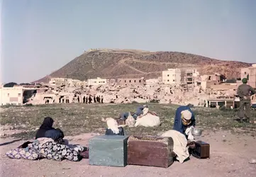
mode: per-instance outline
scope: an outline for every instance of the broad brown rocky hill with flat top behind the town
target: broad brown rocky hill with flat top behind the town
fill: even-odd
[[[51,77],[67,77],[86,80],[89,78],[155,78],[168,68],[194,67],[200,74],[218,72],[227,78],[240,76],[244,62],[223,61],[183,52],[148,52],[142,50],[97,49],[84,52],[56,72],[36,82],[47,82]]]

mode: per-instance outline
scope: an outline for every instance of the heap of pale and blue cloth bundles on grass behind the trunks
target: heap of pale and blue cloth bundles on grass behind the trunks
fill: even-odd
[[[148,105],[139,106],[133,114],[131,112],[121,114],[121,120],[126,120],[128,127],[155,127],[161,124],[157,114],[148,110]]]

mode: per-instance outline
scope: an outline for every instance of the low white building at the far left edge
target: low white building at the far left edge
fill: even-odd
[[[0,105],[22,105],[23,104],[23,86],[1,87]]]

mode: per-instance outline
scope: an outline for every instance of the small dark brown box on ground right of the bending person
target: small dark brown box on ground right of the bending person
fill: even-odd
[[[195,142],[192,155],[198,159],[210,158],[210,144],[202,141]]]

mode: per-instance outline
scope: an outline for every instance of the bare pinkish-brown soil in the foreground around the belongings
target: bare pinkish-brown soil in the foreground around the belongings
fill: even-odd
[[[93,134],[67,137],[69,142],[87,145]],[[256,164],[249,164],[256,159],[255,137],[231,135],[230,132],[204,132],[201,140],[211,144],[211,159],[196,159],[193,156],[184,164],[175,161],[169,168],[149,166],[89,166],[89,159],[79,162],[28,161],[9,159],[5,152],[17,147],[23,141],[0,139],[0,176],[256,176]],[[10,144],[4,144],[11,142]]]

